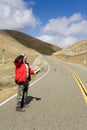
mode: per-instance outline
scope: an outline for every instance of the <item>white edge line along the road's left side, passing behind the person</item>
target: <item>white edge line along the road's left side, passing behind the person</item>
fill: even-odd
[[[47,63],[47,62],[46,62],[46,63]],[[33,83],[31,83],[30,86],[34,85],[36,82],[38,82],[39,80],[41,80],[41,79],[49,72],[50,66],[49,66],[48,63],[47,63],[47,66],[48,66],[47,72],[46,72],[44,75],[42,75],[39,79],[37,79],[37,80],[35,80]],[[14,95],[12,95],[10,98],[6,99],[6,100],[3,101],[2,103],[0,103],[0,106],[4,105],[4,104],[7,103],[8,101],[10,101],[10,100],[11,100],[12,98],[14,98],[16,95],[17,95],[17,93],[14,94]]]

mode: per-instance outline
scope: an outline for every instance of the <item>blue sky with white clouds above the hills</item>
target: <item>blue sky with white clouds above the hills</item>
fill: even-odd
[[[0,0],[0,29],[66,48],[87,38],[87,0]]]

